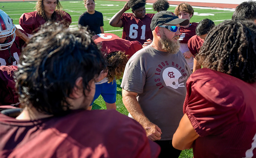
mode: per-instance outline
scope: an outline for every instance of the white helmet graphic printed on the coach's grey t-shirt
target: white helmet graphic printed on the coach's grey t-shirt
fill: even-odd
[[[180,77],[180,71],[174,67],[167,67],[163,70],[163,81],[165,82],[166,86],[170,86],[174,89],[185,87],[184,83],[179,84]]]

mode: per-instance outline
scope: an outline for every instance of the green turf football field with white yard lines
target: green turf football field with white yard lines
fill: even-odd
[[[121,37],[122,28],[114,28],[109,25],[109,20],[111,17],[118,12],[125,4],[125,2],[116,2],[116,1],[99,1],[96,0],[95,10],[102,12],[104,18],[104,31],[111,32]],[[19,24],[19,18],[24,12],[32,12],[34,11],[34,7],[36,2],[1,2],[1,9],[9,14],[11,18],[13,18],[14,24]],[[64,10],[68,12],[72,17],[72,27],[77,28],[78,18],[79,16],[85,12],[85,7],[83,1],[61,1],[61,5]],[[174,12],[175,6],[170,6],[168,11]],[[191,18],[190,22],[199,22],[202,19],[208,18],[215,22],[215,24],[219,24],[224,20],[229,20],[232,17],[234,10],[231,9],[209,9],[203,7],[194,7],[195,14]],[[128,10],[127,13],[131,13],[131,10]],[[152,4],[146,5],[146,13],[156,13],[153,11]],[[128,115],[128,111],[123,105],[122,102],[122,94],[120,88],[121,80],[117,81],[117,110],[124,114]],[[93,103],[93,109],[106,109],[105,102],[100,96]],[[180,158],[192,158],[193,153],[192,150],[184,150]]]

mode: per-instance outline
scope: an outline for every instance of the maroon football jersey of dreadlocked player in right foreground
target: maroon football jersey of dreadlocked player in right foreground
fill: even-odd
[[[211,69],[190,75],[183,112],[199,134],[195,158],[256,158],[256,83]]]

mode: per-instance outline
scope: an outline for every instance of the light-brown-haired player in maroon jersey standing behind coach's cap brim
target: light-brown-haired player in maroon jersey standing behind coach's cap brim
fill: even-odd
[[[181,3],[175,8],[174,14],[176,14],[181,19],[190,20],[190,18],[194,14],[194,9],[188,3]],[[180,39],[179,39],[181,43],[180,50],[183,53],[191,70],[193,70],[194,58],[191,52],[189,51],[188,41],[192,36],[196,35],[196,27],[197,27],[197,23],[193,22],[193,23],[189,23],[189,25],[187,26],[182,26],[180,28],[180,32],[181,32]]]

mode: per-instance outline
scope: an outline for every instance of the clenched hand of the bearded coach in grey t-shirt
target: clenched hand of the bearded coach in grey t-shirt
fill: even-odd
[[[150,140],[155,141],[161,139],[162,131],[156,124],[149,122],[144,126],[144,129],[146,130],[146,135]]]

